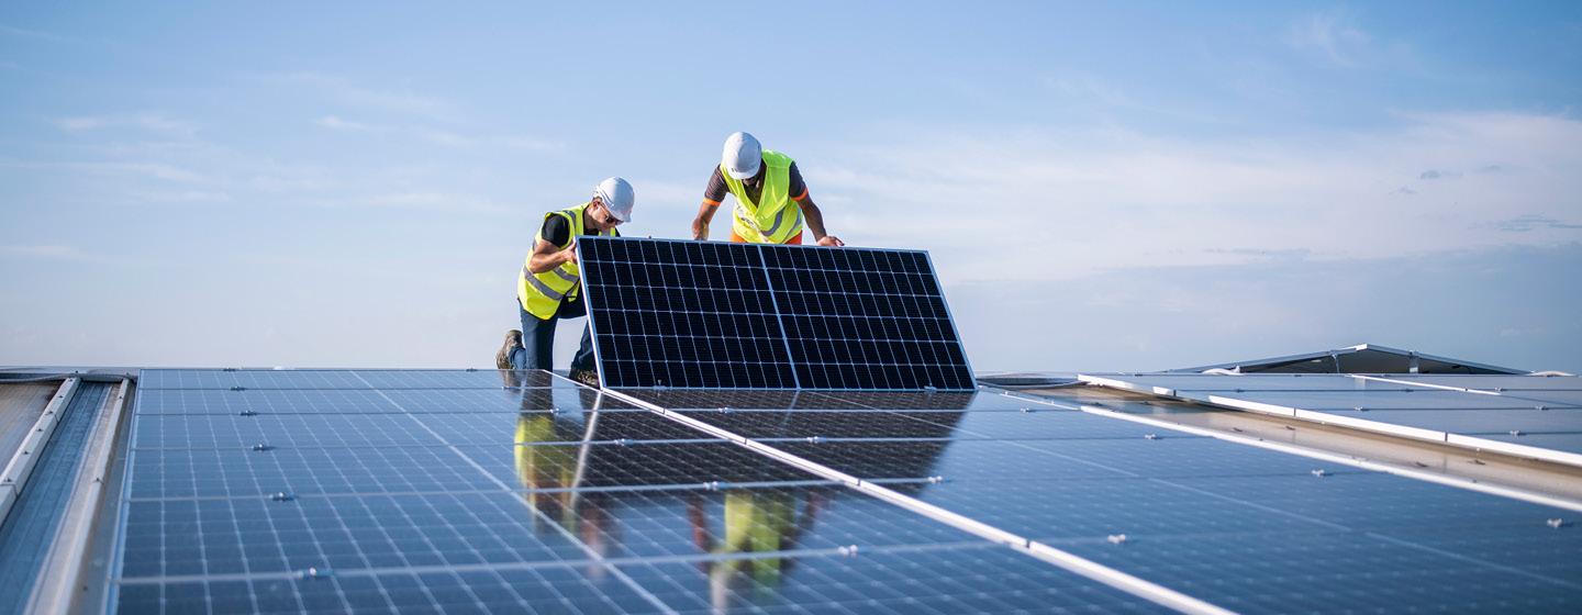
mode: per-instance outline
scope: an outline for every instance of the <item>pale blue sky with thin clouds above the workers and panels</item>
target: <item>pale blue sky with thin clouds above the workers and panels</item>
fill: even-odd
[[[544,210],[685,236],[747,130],[981,370],[1582,372],[1579,76],[1577,3],[6,3],[0,364],[486,367]]]

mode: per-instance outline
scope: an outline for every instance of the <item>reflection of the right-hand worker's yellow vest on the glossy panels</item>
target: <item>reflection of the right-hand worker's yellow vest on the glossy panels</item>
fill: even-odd
[[[736,489],[725,493],[725,539],[717,541],[709,528],[704,496],[690,493],[687,520],[693,528],[693,542],[710,555],[751,555],[793,550],[804,533],[813,530],[818,511],[829,501],[824,490],[805,490],[807,506],[796,514],[796,493],[802,490]],[[780,575],[793,560],[780,557],[721,558],[701,561],[698,566],[709,574],[709,598],[715,609],[728,607],[731,593],[742,582],[751,582],[753,590],[775,590]]]

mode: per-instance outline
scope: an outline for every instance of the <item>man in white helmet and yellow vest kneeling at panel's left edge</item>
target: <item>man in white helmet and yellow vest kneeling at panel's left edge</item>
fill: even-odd
[[[581,206],[544,213],[544,224],[533,239],[533,251],[516,280],[516,302],[522,330],[505,334],[495,353],[501,370],[549,370],[555,346],[555,321],[587,315],[582,302],[582,272],[577,269],[577,236],[620,237],[615,226],[631,220],[634,194],[620,177],[598,182],[593,199]],[[582,348],[571,359],[571,379],[598,386],[593,372],[593,330],[582,329]]]

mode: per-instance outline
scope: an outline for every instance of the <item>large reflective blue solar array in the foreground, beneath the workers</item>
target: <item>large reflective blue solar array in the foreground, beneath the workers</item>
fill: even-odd
[[[144,372],[109,609],[1582,602],[1571,511],[995,392],[378,375]]]

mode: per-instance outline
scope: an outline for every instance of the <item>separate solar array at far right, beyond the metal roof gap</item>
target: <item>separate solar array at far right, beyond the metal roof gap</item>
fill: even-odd
[[[1158,375],[1084,381],[1582,466],[1582,378]]]

